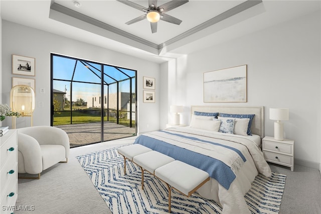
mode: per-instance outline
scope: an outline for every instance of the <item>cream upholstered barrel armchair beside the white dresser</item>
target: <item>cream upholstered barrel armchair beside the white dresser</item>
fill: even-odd
[[[62,129],[35,126],[18,130],[18,173],[38,174],[58,162],[67,162],[69,137]]]

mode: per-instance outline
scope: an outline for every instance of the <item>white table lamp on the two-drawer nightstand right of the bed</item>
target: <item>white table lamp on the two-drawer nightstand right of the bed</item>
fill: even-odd
[[[270,109],[270,120],[274,120],[274,139],[283,140],[283,123],[281,121],[289,120],[289,109],[279,108]]]

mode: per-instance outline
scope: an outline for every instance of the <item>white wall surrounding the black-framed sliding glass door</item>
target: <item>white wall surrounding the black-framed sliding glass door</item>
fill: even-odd
[[[22,55],[36,58],[36,108],[34,112],[34,126],[50,125],[50,53],[72,56],[91,61],[116,65],[137,70],[137,99],[138,99],[138,132],[147,132],[159,129],[159,85],[155,85],[155,103],[142,102],[143,76],[159,79],[159,64],[148,62],[136,57],[128,56],[87,43],[61,37],[45,31],[3,21],[3,103],[10,102],[12,77],[11,55]],[[44,88],[45,93],[40,93]],[[38,103],[44,103],[40,108]],[[5,120],[4,125],[11,126],[11,120]],[[148,126],[147,126],[148,125]],[[30,126],[29,118],[18,118],[17,128]],[[148,128],[147,128],[148,127]]]

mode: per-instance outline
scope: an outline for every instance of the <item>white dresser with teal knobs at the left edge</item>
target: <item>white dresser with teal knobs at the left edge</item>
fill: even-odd
[[[0,137],[0,213],[13,213],[18,197],[18,134]]]

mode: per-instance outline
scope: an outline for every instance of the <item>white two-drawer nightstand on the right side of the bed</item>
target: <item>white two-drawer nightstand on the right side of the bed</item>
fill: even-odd
[[[262,151],[266,161],[271,163],[288,166],[291,171],[294,169],[294,141],[284,139],[275,140],[273,137],[264,137],[262,139]]]

